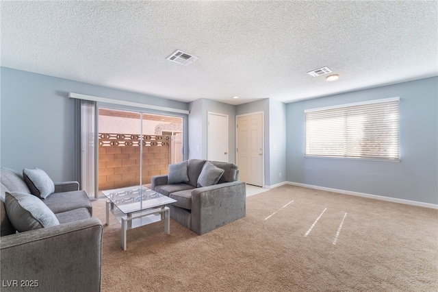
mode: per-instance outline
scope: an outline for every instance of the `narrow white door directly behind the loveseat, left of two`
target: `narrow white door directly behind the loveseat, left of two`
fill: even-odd
[[[228,162],[227,114],[207,114],[207,159]]]

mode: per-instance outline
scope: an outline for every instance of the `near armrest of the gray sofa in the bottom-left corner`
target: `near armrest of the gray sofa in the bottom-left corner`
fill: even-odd
[[[1,279],[18,280],[2,291],[101,291],[102,232],[90,218],[2,236]]]

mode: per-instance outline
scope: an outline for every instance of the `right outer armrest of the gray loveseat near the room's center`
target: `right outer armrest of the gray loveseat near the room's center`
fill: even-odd
[[[204,234],[245,216],[245,182],[224,182],[192,191],[192,231],[197,234]]]

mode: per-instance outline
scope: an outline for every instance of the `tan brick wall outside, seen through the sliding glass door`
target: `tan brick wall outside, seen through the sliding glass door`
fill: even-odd
[[[126,138],[105,141],[103,135],[99,134],[99,191],[138,186],[141,165],[139,143],[130,143]],[[155,142],[157,137],[163,139],[164,136],[153,136],[152,143],[144,141],[142,184],[150,184],[153,175],[168,173],[170,145],[166,143],[166,138],[164,142]]]

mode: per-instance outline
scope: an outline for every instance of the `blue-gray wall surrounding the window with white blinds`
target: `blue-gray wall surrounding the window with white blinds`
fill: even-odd
[[[438,77],[287,104],[287,180],[438,204]],[[305,158],[304,110],[400,97],[400,162]]]

